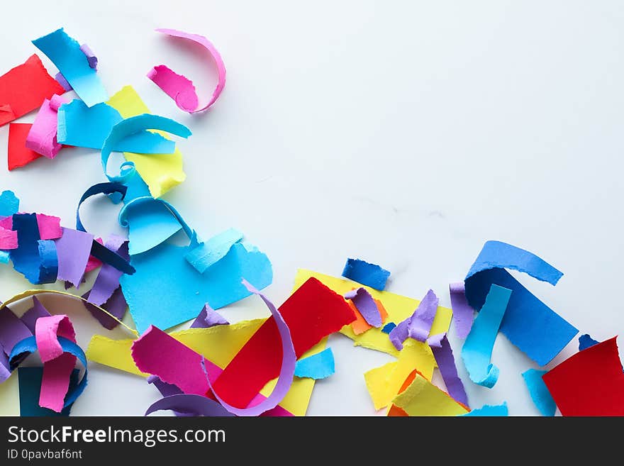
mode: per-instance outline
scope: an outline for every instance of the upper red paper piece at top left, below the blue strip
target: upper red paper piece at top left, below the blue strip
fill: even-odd
[[[38,109],[54,94],[65,94],[65,89],[48,74],[39,57],[31,55],[23,65],[0,76],[0,126]]]

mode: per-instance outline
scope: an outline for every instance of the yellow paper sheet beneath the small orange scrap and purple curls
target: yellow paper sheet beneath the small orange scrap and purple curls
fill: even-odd
[[[359,283],[352,282],[347,279],[331,277],[330,275],[320,274],[311,270],[299,269],[295,276],[295,287],[298,288],[308,278],[315,277],[325,286],[333,289],[338,294],[344,295],[350,292],[354,288],[362,287]],[[388,318],[386,323],[394,322],[398,324],[411,316],[420,301],[418,299],[408,298],[407,296],[401,296],[400,294],[394,294],[390,292],[379,292],[377,289],[370,287],[364,287],[372,295],[374,299],[379,299],[381,304],[384,305],[386,311],[388,311]],[[433,319],[433,325],[431,326],[431,335],[438,335],[438,333],[445,333],[451,323],[452,311],[446,307],[438,306],[438,312]],[[344,326],[340,330],[342,335],[353,340],[353,345],[362,346],[371,350],[382,351],[393,356],[398,356],[399,351],[394,348],[387,333],[381,331],[381,328],[371,328],[369,331],[355,335],[351,326]]]

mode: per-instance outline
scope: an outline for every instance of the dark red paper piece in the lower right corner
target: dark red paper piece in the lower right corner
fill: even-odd
[[[576,353],[542,376],[563,416],[624,416],[624,373],[615,339]]]

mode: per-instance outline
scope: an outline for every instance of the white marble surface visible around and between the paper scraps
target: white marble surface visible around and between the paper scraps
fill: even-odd
[[[132,84],[152,112],[191,128],[179,141],[188,178],[165,199],[204,237],[244,231],[272,260],[266,291],[277,304],[298,267],[340,275],[348,256],[391,270],[389,291],[420,298],[432,288],[449,306],[448,283],[496,239],[564,272],[557,287],[520,279],[581,332],[602,340],[624,328],[620,2],[30,0],[6,2],[2,17],[0,72],[35,52],[31,39],[65,26],[96,52],[110,94]],[[228,81],[211,111],[179,111],[145,77],[165,63],[194,79],[203,101],[215,84],[193,48],[157,27],[206,35],[221,51]],[[79,196],[103,181],[93,150],[0,170],[22,209],[67,226]],[[84,223],[106,235],[117,209],[93,201]],[[2,267],[1,299],[25,287]],[[257,301],[223,314],[266,316]],[[459,355],[453,331],[451,343]],[[316,384],[308,414],[374,414],[362,374],[391,357],[342,335],[330,346],[337,372]],[[574,339],[548,367],[576,348]],[[493,362],[501,377],[489,390],[458,361],[472,406],[506,400],[510,414],[538,414],[520,376],[533,362],[503,335]],[[89,368],[75,415],[140,415],[157,399],[142,379]]]

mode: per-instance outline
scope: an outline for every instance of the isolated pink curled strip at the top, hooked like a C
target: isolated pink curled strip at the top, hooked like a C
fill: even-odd
[[[223,63],[221,54],[203,35],[185,33],[182,30],[175,29],[157,29],[156,32],[192,40],[193,42],[202,45],[206,48],[206,50],[208,50],[210,55],[212,55],[217,66],[218,83],[213,91],[212,98],[208,101],[208,104],[201,109],[198,109],[199,99],[197,97],[193,82],[190,79],[169,70],[169,68],[165,65],[154,67],[149,73],[147,73],[147,77],[152,79],[152,81],[160,87],[160,89],[165,91],[165,94],[174,99],[179,109],[189,113],[197,113],[208,109],[216,102],[221,95],[221,91],[223,91],[223,88],[225,87],[225,64]]]

